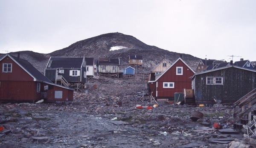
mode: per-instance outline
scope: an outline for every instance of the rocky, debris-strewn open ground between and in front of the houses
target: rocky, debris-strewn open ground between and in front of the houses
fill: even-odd
[[[255,139],[233,129],[233,108],[157,102],[145,76],[90,79],[73,104],[0,104],[1,148],[252,148]],[[144,91],[144,93],[143,93]],[[204,114],[190,119],[192,112]],[[214,123],[223,129],[212,128]]]

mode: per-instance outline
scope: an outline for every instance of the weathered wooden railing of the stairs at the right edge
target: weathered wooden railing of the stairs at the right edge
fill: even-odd
[[[253,111],[253,105],[256,104],[256,88],[250,91],[248,94],[241,97],[233,104],[234,114],[233,122],[236,123],[237,118],[241,119],[247,116],[248,121],[251,121]]]

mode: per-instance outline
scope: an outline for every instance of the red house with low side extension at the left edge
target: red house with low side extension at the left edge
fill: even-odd
[[[6,54],[0,59],[0,69],[0,101],[73,101],[73,89],[52,83],[19,55]]]

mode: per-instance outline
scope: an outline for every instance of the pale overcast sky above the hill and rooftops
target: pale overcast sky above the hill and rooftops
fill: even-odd
[[[0,53],[50,53],[111,32],[203,59],[256,61],[256,0],[0,0]]]

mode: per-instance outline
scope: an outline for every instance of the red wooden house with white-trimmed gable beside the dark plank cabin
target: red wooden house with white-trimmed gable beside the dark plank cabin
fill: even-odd
[[[163,74],[148,81],[150,94],[156,99],[174,100],[174,93],[191,89],[191,77],[195,72],[181,58],[177,59]]]

